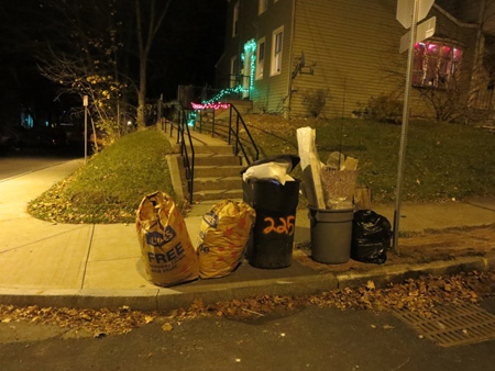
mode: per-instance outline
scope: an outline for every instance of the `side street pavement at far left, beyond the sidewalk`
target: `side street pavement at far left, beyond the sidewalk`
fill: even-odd
[[[0,181],[26,172],[41,170],[54,165],[66,162],[69,157],[63,156],[3,156],[0,157]]]

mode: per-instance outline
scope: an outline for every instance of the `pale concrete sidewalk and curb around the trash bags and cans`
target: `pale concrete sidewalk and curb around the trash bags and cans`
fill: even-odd
[[[166,310],[188,305],[197,299],[208,303],[256,294],[308,294],[334,289],[343,280],[349,284],[352,279],[349,274],[321,274],[294,260],[286,269],[263,270],[244,262],[222,279],[198,280],[168,289],[156,286],[145,279],[133,224],[54,224],[35,220],[25,212],[29,201],[81,164],[72,160],[0,181],[0,304],[130,305],[141,310]],[[201,215],[210,206],[202,204],[186,218],[193,243],[199,234]],[[377,205],[374,210],[392,221],[392,205]],[[477,199],[471,203],[405,204],[400,229],[420,232],[493,223],[495,201]],[[305,210],[297,213],[295,239],[296,243],[309,240]],[[437,267],[447,269],[458,263],[486,270],[495,265],[492,258],[493,261],[466,259],[437,263]],[[386,273],[382,267],[376,267],[369,276],[389,278],[391,272],[404,276],[404,272],[431,271],[428,269],[433,266],[394,267],[392,271],[388,267]]]

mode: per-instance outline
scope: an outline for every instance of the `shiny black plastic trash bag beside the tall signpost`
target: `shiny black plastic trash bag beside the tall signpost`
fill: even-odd
[[[371,210],[354,213],[351,258],[383,265],[391,248],[392,226],[388,220]]]

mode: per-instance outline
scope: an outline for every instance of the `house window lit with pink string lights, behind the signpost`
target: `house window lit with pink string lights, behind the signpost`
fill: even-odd
[[[462,50],[453,45],[429,42],[415,46],[413,85],[447,88],[460,71]]]

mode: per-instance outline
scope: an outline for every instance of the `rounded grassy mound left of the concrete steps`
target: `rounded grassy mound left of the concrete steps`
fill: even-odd
[[[33,200],[28,211],[61,223],[134,222],[146,193],[161,190],[174,195],[168,153],[170,146],[161,132],[127,135]]]

